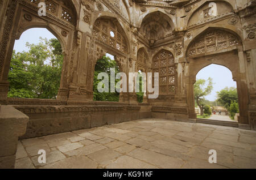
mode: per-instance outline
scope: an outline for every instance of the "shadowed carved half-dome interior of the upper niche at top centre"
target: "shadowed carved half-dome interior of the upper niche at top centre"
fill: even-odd
[[[171,19],[162,12],[152,12],[143,19],[140,32],[148,40],[160,40],[172,34]]]

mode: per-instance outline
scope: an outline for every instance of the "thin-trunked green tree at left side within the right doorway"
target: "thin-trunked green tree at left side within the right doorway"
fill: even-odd
[[[205,84],[207,82],[208,82],[208,85],[207,87],[205,87]],[[205,96],[209,95],[212,92],[212,89],[213,89],[212,78],[208,78],[208,80],[199,79],[196,81],[194,85],[195,100],[196,100],[196,104],[199,106],[201,110],[201,115],[204,114]]]

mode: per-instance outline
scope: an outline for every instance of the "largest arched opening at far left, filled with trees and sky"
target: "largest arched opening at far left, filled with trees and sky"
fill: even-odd
[[[31,28],[15,41],[8,80],[10,98],[56,99],[63,66],[60,41],[46,28]]]

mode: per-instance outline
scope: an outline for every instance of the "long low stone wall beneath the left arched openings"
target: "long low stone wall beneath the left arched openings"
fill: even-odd
[[[101,104],[101,102],[97,102],[97,104]],[[151,117],[151,106],[121,104],[85,106],[22,105],[14,106],[14,108],[30,118],[27,123],[26,134],[21,136],[20,139],[35,138]]]

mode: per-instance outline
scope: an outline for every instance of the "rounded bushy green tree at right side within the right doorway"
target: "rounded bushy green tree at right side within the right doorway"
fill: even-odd
[[[237,88],[226,87],[220,92],[217,92],[217,101],[220,102],[222,106],[229,110],[230,105],[233,102],[238,102]]]

